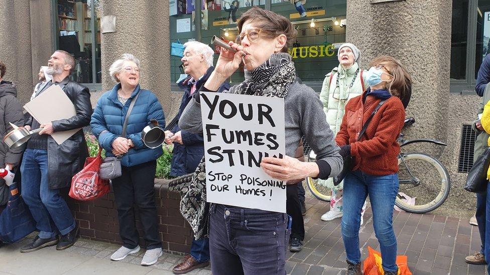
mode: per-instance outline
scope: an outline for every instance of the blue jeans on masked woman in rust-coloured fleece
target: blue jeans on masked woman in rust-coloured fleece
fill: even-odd
[[[344,179],[342,238],[347,260],[360,262],[359,226],[362,205],[369,195],[376,237],[380,242],[383,268],[396,271],[397,239],[393,231],[393,206],[398,193],[398,174],[369,175],[360,170]]]

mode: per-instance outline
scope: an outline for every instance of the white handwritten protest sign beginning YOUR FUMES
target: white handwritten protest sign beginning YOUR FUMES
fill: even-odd
[[[286,213],[286,182],[260,167],[285,156],[284,99],[201,93],[208,202]]]

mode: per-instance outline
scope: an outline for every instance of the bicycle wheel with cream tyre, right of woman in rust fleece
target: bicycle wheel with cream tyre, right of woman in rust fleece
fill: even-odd
[[[395,204],[411,213],[427,213],[441,206],[449,195],[451,180],[439,160],[424,153],[398,156],[400,187]],[[415,205],[403,201],[403,195],[415,198]]]

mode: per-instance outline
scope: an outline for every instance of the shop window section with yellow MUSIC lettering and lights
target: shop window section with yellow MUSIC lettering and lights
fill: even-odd
[[[272,0],[271,10],[291,20],[298,35],[290,48],[296,75],[323,81],[338,66],[337,48],[345,42],[345,0]]]

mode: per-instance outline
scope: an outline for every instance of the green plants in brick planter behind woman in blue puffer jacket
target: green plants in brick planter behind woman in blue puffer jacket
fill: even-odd
[[[85,134],[85,139],[88,146],[88,154],[91,157],[95,157],[99,151],[99,143],[95,136]],[[172,151],[173,145],[163,145],[163,155],[157,159],[157,170],[155,172],[156,178],[170,178],[170,165],[172,163]],[[102,158],[105,158],[105,149],[102,149]]]

